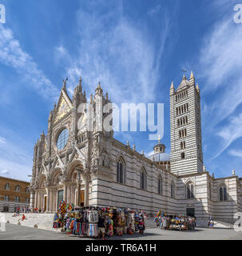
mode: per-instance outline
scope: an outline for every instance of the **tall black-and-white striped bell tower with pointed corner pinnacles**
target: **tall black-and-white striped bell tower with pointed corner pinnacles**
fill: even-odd
[[[177,90],[170,87],[171,171],[194,174],[203,171],[200,122],[200,89],[191,72]]]

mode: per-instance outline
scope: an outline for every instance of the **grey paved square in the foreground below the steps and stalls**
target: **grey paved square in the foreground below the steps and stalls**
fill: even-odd
[[[242,240],[242,232],[228,229],[196,228],[194,231],[173,231],[147,229],[145,234],[114,236],[109,240]],[[97,240],[97,238],[78,238],[51,230],[34,229],[28,226],[6,224],[6,232],[0,232],[0,240]]]

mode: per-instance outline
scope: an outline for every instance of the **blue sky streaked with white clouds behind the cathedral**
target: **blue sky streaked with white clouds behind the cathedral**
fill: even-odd
[[[240,1],[239,1],[240,2]],[[204,165],[216,177],[242,174],[242,24],[238,1],[1,0],[0,175],[30,180],[34,143],[62,86],[79,76],[113,102],[164,102],[169,152],[169,86],[181,70],[201,90]],[[242,2],[241,2],[242,3]],[[149,154],[148,133],[117,133]]]

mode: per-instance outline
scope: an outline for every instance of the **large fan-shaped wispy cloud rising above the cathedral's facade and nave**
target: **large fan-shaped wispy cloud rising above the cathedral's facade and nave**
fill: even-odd
[[[75,85],[81,76],[88,93],[101,81],[113,102],[153,101],[169,35],[169,18],[161,20],[161,46],[157,54],[152,35],[125,18],[120,6],[113,6],[102,15],[95,10],[77,12],[78,54],[72,56],[64,46],[55,49],[57,58],[70,60],[66,62],[69,84]],[[73,87],[69,89],[73,91]]]

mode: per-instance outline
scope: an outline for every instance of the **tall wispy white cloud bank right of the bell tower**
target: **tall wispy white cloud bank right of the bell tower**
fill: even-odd
[[[210,98],[209,102],[204,98],[203,118],[204,122],[209,122],[204,134],[217,134],[223,139],[222,150],[212,159],[240,138],[241,115],[236,113],[236,108],[242,102],[241,26],[233,22],[231,2],[216,5],[216,10],[223,15],[205,35],[196,66],[204,82],[203,94]]]

